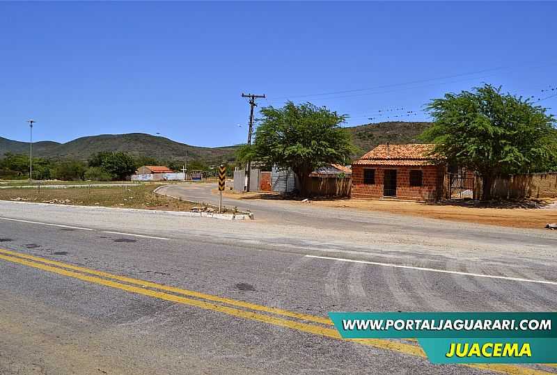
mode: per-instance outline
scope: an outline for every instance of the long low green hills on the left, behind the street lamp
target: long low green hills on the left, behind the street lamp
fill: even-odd
[[[185,159],[206,163],[219,163],[233,160],[237,146],[197,147],[175,142],[171,139],[143,133],[101,134],[74,139],[68,143],[50,141],[33,143],[33,156],[52,159],[86,160],[91,154],[100,151],[123,151],[134,156],[155,157],[160,160]],[[11,141],[0,137],[0,155],[6,152],[26,154],[29,143]]]

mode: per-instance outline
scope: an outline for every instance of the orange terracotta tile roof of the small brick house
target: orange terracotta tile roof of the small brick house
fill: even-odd
[[[354,164],[378,164],[386,166],[425,166],[442,159],[432,154],[435,145],[377,145]]]

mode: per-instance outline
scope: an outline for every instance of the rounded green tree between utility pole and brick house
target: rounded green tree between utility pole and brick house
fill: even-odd
[[[282,108],[261,109],[253,147],[239,152],[278,168],[292,168],[306,194],[307,179],[324,163],[347,163],[354,151],[350,134],[340,127],[346,115],[311,103],[287,102]]]

